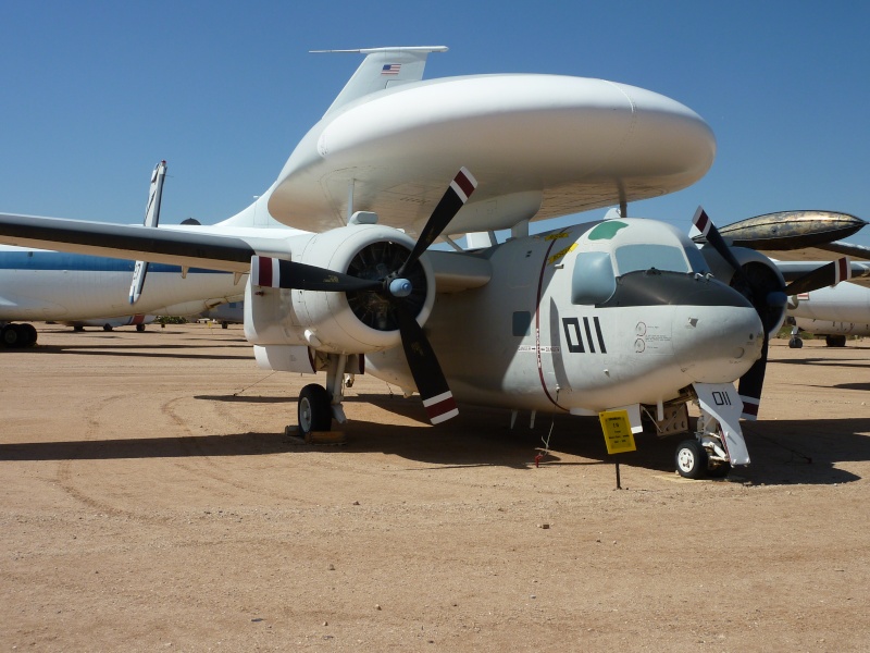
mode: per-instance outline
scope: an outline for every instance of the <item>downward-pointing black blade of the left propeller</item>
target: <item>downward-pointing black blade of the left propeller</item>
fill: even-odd
[[[456,401],[423,329],[401,300],[394,300],[393,306],[396,308],[405,357],[430,421],[438,424],[456,417],[459,415]]]

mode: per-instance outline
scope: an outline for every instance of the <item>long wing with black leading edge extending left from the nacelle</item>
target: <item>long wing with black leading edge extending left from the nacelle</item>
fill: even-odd
[[[13,213],[0,213],[0,243],[243,273],[251,256],[274,251],[266,238]]]

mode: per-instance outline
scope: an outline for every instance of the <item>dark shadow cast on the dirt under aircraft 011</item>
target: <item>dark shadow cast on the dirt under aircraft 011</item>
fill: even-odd
[[[202,396],[225,402],[285,403],[275,397]],[[353,404],[368,402],[412,420],[410,424],[353,421]],[[434,467],[502,466],[534,467],[538,447],[549,435],[548,466],[611,464],[595,418],[538,415],[533,429],[530,415],[520,414],[514,429],[510,412],[501,409],[462,407],[459,418],[438,427],[422,421],[419,402],[398,395],[349,397],[343,430],[343,446],[295,445],[284,433],[234,433],[179,438],[114,439],[73,442],[0,444],[0,459],[60,460],[164,458],[189,456],[262,456],[312,451],[333,451],[336,456],[383,452],[413,464]],[[743,422],[753,464],[736,475],[753,484],[833,484],[860,477],[842,469],[842,464],[870,460],[870,419],[775,420]],[[642,433],[637,449],[620,454],[621,465],[672,473],[676,445],[684,436],[659,439]]]

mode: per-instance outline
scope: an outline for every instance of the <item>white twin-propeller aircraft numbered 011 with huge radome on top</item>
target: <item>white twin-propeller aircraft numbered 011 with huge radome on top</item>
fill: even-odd
[[[258,362],[325,372],[300,393],[303,434],[345,421],[345,384],[364,372],[419,392],[433,423],[457,403],[533,419],[624,409],[633,431],[646,421],[670,433],[688,429],[692,401],[701,417],[678,447],[680,473],[748,464],[738,419],[758,407],[783,276],[729,247],[701,211],[700,252],[667,223],[626,218],[630,202],[707,172],[710,127],[672,99],[601,79],[423,81],[428,53],[445,49],[357,50],[366,57],[323,119],[229,221],[307,233],[0,214],[0,241],[250,272],[245,334]],[[619,219],[527,234],[529,221],[614,204]],[[485,246],[426,251],[465,233]]]

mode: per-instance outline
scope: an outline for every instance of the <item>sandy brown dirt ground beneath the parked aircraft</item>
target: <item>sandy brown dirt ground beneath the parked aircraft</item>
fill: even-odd
[[[751,466],[642,435],[619,491],[594,419],[433,428],[361,377],[299,446],[310,379],[238,326],[38,326],[0,350],[0,651],[870,650],[870,341],[773,341]]]

